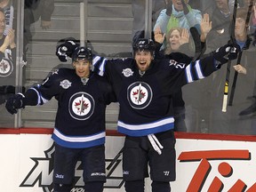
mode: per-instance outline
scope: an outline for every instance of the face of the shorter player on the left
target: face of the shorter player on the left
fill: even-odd
[[[89,60],[75,60],[73,66],[77,76],[87,77],[90,75],[91,62]]]

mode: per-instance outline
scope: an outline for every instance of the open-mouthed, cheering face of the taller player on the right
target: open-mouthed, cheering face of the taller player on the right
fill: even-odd
[[[153,60],[153,56],[151,52],[147,51],[135,52],[134,59],[140,71],[146,71],[150,66],[151,60]]]

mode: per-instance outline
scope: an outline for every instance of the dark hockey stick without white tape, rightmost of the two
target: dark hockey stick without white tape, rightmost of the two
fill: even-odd
[[[245,26],[248,28],[248,24],[249,24],[249,21],[250,21],[250,17],[251,17],[251,13],[252,13],[252,4],[253,4],[253,0],[250,1],[250,4],[249,4],[249,8],[248,8],[248,12],[247,12],[247,16],[246,16],[246,20],[245,20]],[[245,49],[248,49],[249,46],[250,46],[250,37],[247,36],[247,41],[246,41],[246,47]],[[249,41],[249,42],[248,42]],[[242,52],[239,53],[238,55],[238,59],[237,59],[237,64],[240,64],[240,61],[241,61],[241,58],[242,58],[242,53],[243,53],[243,50]],[[238,72],[235,71],[235,75],[234,75],[234,78],[233,78],[233,84],[232,84],[232,87],[231,87],[231,92],[230,92],[230,96],[229,96],[229,100],[228,100],[228,106],[232,106],[233,104],[233,100],[234,100],[234,95],[235,95],[235,90],[236,90],[236,81],[237,81],[237,76],[238,76]]]

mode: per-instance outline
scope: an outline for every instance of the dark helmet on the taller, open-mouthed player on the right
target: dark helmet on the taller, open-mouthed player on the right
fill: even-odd
[[[155,43],[152,39],[148,38],[139,38],[132,46],[133,53],[147,51],[154,54],[155,52]]]

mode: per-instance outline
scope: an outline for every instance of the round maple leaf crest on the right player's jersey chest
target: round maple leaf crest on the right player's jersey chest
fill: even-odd
[[[128,87],[127,100],[132,108],[147,108],[153,97],[151,87],[145,82],[135,82]]]

